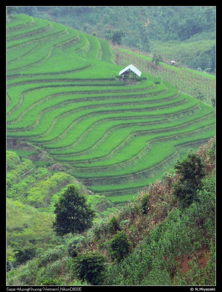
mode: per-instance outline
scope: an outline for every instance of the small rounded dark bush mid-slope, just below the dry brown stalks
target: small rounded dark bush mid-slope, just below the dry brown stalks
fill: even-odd
[[[127,234],[124,231],[118,231],[109,241],[108,253],[113,260],[120,261],[130,253],[131,248],[132,243],[128,241]]]

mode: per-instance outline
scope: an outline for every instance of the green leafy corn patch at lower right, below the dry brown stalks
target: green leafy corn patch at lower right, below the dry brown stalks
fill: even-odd
[[[206,178],[203,184],[199,204],[202,228],[196,224],[195,205],[190,205],[186,212],[175,208],[162,223],[150,229],[129,256],[108,267],[104,284],[214,285],[215,176]],[[196,263],[198,258],[205,258],[206,263],[203,268],[187,264],[190,270],[184,274],[182,259],[190,260],[191,256]]]

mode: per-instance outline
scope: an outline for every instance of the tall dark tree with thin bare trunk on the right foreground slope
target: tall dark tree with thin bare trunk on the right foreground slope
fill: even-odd
[[[201,157],[197,153],[190,151],[186,158],[178,161],[175,165],[176,173],[180,175],[179,181],[174,185],[173,194],[179,206],[188,208],[194,201],[197,202],[197,190],[202,189],[202,178],[205,175],[205,167]],[[197,216],[199,212],[197,206]],[[200,221],[199,221],[200,223]]]

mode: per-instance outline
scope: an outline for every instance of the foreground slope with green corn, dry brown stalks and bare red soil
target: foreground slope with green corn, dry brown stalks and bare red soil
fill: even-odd
[[[12,268],[8,285],[215,285],[215,140],[197,154],[206,171],[197,193],[199,221],[195,202],[178,208],[179,176],[168,172],[119,213]],[[87,281],[80,272],[85,257]]]

